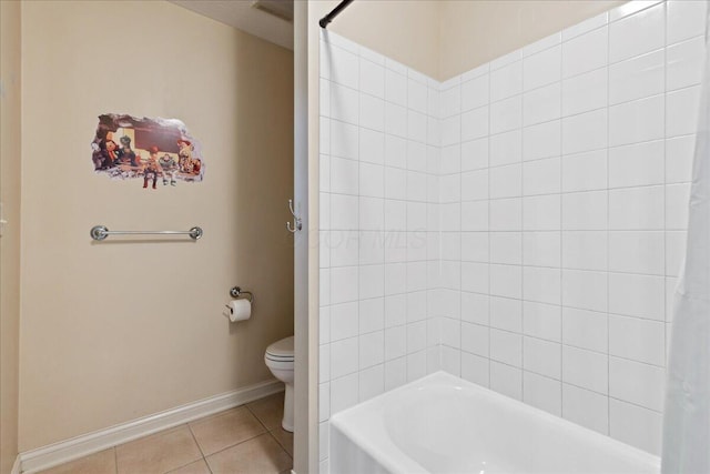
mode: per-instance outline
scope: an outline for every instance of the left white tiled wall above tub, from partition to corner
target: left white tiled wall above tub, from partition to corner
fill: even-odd
[[[452,155],[440,143],[458,148],[460,131],[440,134],[439,104],[458,117],[462,100],[331,33],[321,52],[323,438],[331,414],[442,366],[440,323],[427,300],[439,273],[439,194],[460,202],[458,179],[439,192],[442,154]],[[460,327],[447,330],[459,337]],[[327,468],[327,443],[321,460]]]

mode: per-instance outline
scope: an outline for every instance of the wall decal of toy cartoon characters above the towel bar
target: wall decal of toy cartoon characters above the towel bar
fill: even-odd
[[[91,142],[94,170],[112,179],[138,179],[143,188],[200,182],[204,177],[202,145],[176,119],[99,115]]]

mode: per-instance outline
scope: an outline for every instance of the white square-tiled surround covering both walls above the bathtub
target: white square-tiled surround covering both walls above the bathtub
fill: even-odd
[[[324,471],[437,370],[659,453],[704,2],[650,3],[443,83],[322,32]]]

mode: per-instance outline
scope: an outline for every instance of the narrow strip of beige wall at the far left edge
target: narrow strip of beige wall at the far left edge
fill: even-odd
[[[18,454],[20,323],[20,3],[0,1],[0,473]]]

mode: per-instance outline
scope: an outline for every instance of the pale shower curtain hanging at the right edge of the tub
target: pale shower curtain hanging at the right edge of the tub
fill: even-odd
[[[709,56],[706,31],[706,65],[690,191],[688,246],[673,305],[663,416],[663,474],[710,474]]]

